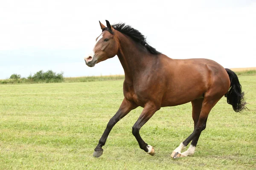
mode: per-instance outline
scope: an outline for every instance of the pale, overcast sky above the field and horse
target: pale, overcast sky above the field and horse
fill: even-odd
[[[117,56],[85,65],[101,34],[99,20],[131,25],[173,59],[256,67],[256,0],[2,0],[0,79],[40,70],[64,77],[124,74]]]

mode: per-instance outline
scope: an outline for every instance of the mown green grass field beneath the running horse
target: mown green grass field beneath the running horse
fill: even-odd
[[[236,113],[221,99],[212,109],[194,156],[170,157],[192,133],[191,104],[161,108],[140,134],[131,133],[142,108],[113,127],[104,153],[94,158],[108,120],[122,102],[122,80],[0,85],[0,170],[256,169],[256,76],[241,76],[250,111]],[[177,121],[178,120],[178,121]]]

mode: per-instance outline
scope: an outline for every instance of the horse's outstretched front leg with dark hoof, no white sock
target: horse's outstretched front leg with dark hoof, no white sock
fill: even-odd
[[[127,99],[123,99],[122,104],[120,105],[119,110],[116,114],[109,120],[108,125],[102,134],[102,137],[99,139],[99,144],[95,147],[93,156],[99,157],[103,153],[102,146],[105,145],[108,135],[116,123],[122,119],[125,115],[127,115],[131,110],[137,108],[138,106],[134,102],[130,102]]]

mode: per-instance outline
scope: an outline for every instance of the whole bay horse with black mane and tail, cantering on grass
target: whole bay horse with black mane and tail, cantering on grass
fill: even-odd
[[[93,53],[84,60],[86,65],[93,67],[117,55],[125,72],[124,99],[109,120],[93,156],[102,155],[102,146],[113,126],[138,106],[144,109],[132,127],[132,133],[140,148],[153,156],[154,147],[143,141],[140,128],[161,107],[192,103],[194,131],[173,151],[172,158],[194,154],[209,112],[222,96],[227,97],[227,103],[234,111],[246,108],[244,93],[233,71],[209,59],[171,59],[148,45],[145,37],[131,26],[124,23],[111,26],[106,22],[107,27],[99,22],[102,33],[96,38]],[[190,142],[188,150],[181,153]]]

